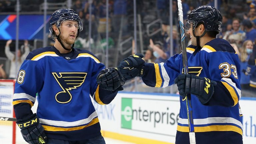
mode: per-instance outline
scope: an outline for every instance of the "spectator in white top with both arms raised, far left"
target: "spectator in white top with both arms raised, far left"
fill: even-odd
[[[16,76],[18,74],[18,70],[22,64],[22,62],[25,60],[27,55],[29,54],[29,46],[28,46],[28,41],[24,41],[24,47],[25,47],[25,52],[24,54],[21,54],[20,49],[17,51],[17,65],[16,65],[16,57],[15,54],[13,54],[10,51],[10,44],[12,43],[12,40],[8,40],[5,45],[5,55],[6,57],[11,61],[11,67],[10,67],[10,79],[16,79]]]

